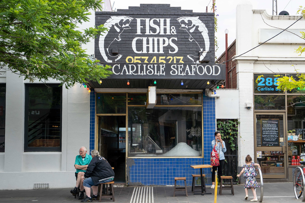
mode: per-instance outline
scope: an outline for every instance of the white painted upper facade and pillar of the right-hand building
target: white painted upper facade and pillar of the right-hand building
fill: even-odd
[[[265,10],[252,10],[249,1],[241,2],[236,7],[236,56],[261,44],[266,36],[268,38],[270,30],[266,31],[266,29],[274,29],[274,27],[286,29],[299,18],[300,16],[270,16]],[[304,23],[304,19],[301,19],[289,29],[295,33],[297,29],[304,28]],[[261,32],[262,30],[264,31]],[[281,31],[281,29],[272,30],[272,33]],[[254,110],[245,108],[245,103],[248,102],[252,103],[253,107],[253,74],[294,73],[291,65],[300,72],[305,72],[305,57],[294,53],[297,47],[305,44],[300,44],[300,40],[295,38],[290,39],[290,35],[291,33],[284,31],[279,37],[234,59],[239,89],[239,133],[241,136],[239,138],[239,166],[244,164],[247,154],[254,157],[256,144],[253,139]],[[288,38],[289,40],[285,40]]]

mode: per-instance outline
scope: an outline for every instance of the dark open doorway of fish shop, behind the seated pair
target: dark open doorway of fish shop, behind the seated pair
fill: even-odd
[[[97,116],[97,150],[114,167],[115,182],[126,183],[126,116]]]

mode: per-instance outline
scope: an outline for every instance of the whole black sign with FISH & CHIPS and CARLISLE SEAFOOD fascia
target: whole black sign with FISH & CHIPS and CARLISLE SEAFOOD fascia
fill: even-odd
[[[214,64],[213,13],[141,5],[95,12],[95,25],[107,28],[95,38],[95,58],[117,64],[111,78],[225,79],[225,65]]]

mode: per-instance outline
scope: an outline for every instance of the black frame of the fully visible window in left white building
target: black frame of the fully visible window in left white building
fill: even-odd
[[[28,147],[28,109],[29,87],[58,87],[60,84],[25,84],[24,102],[24,152],[61,152],[62,148],[62,120],[63,120],[63,88],[60,86],[60,141],[59,147]]]

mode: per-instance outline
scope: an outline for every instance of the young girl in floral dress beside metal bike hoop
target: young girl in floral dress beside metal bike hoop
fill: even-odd
[[[248,154],[246,156],[246,164],[243,166],[242,171],[237,175],[237,177],[240,177],[242,173],[244,173],[244,178],[246,180],[245,183],[245,192],[246,197],[245,199],[248,199],[248,189],[251,189],[253,192],[253,199],[250,201],[257,201],[256,191],[255,188],[260,187],[256,180],[255,176],[257,175],[254,166],[258,166],[260,168],[260,165],[258,163],[253,163],[251,156]]]

